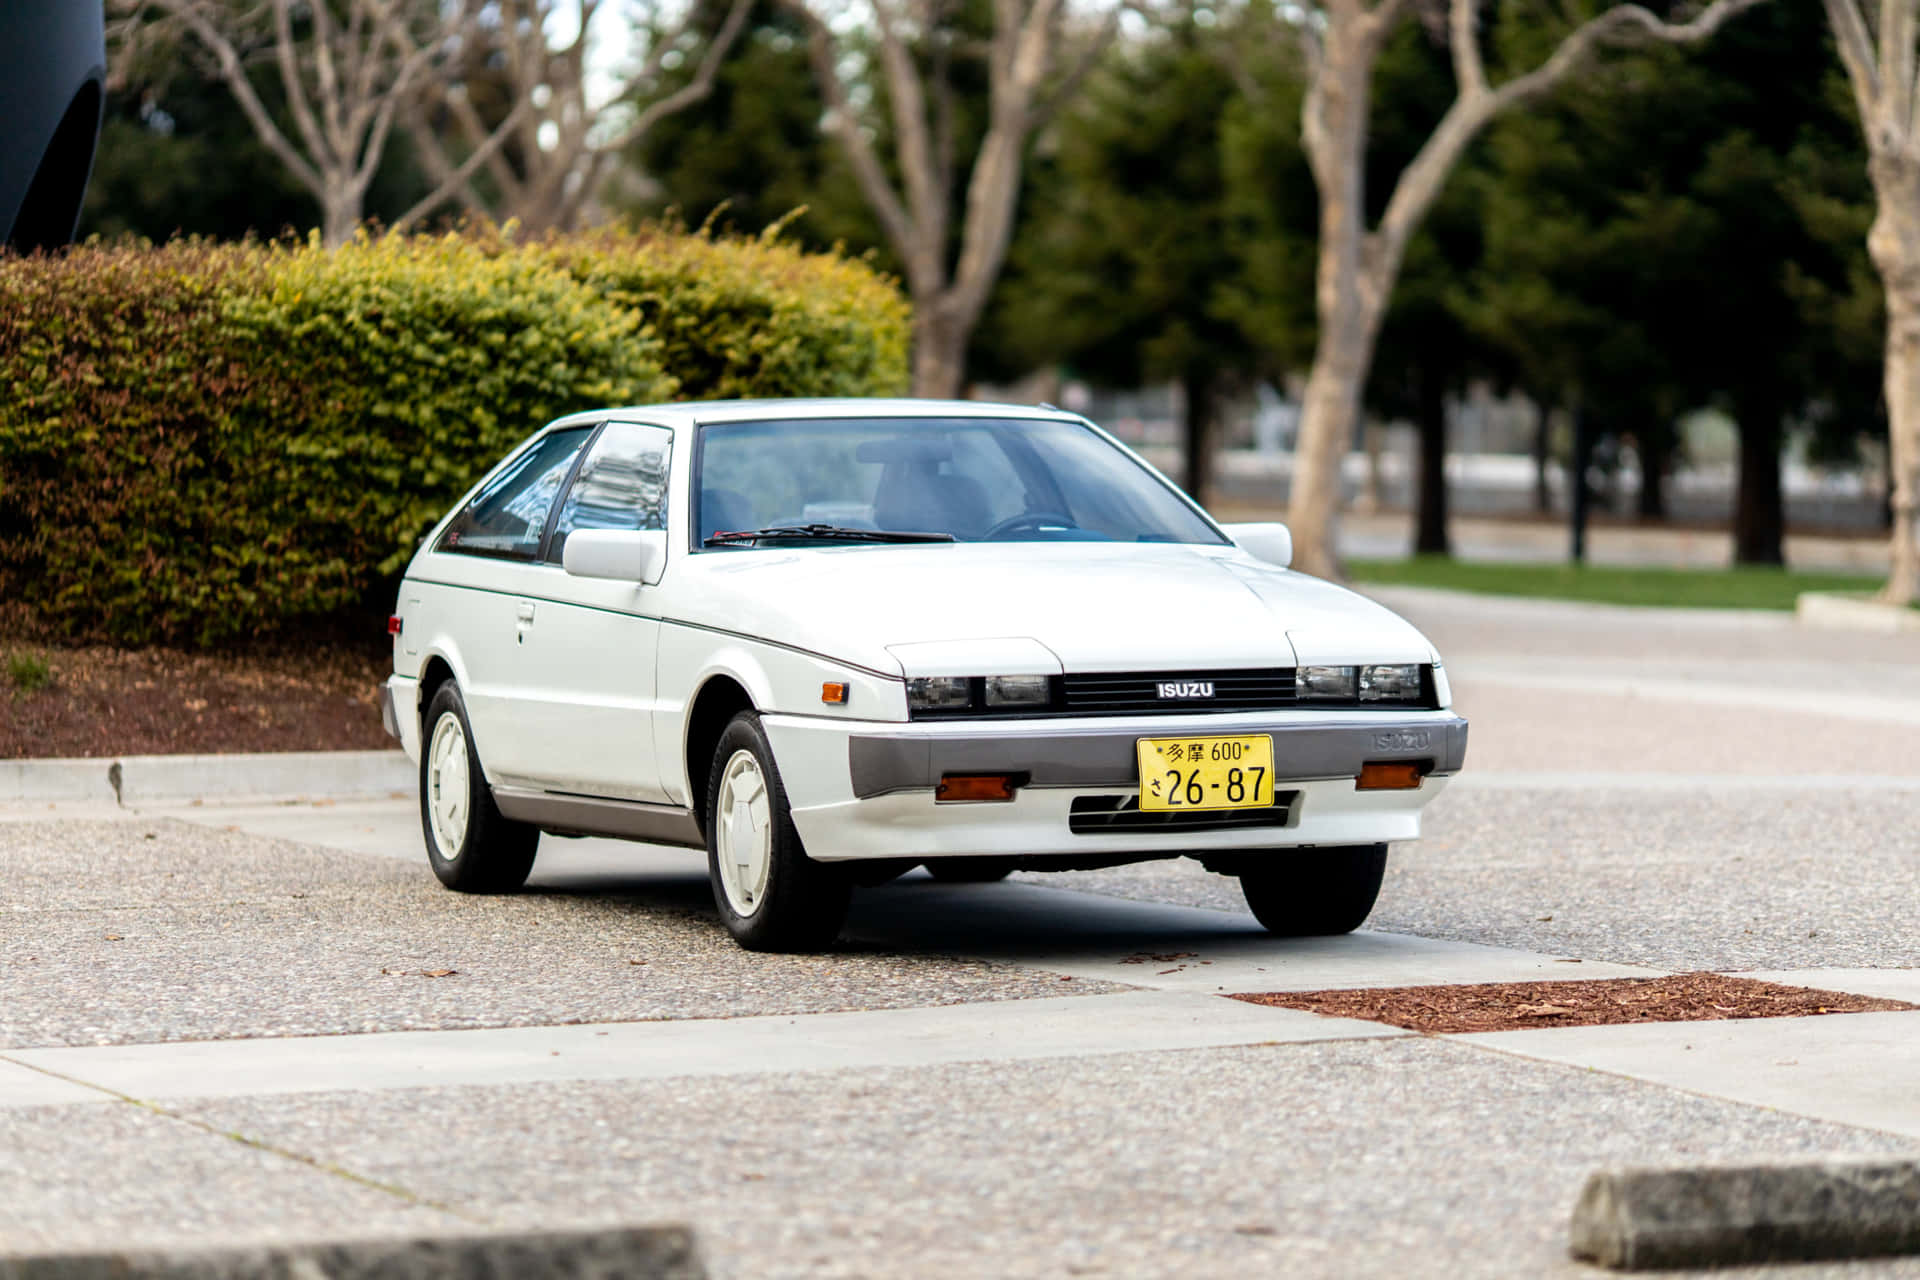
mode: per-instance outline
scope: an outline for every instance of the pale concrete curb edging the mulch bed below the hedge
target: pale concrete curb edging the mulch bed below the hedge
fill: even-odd
[[[179,804],[413,794],[399,750],[0,760],[0,804]]]

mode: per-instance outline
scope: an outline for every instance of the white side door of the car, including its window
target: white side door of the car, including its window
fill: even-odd
[[[549,585],[524,626],[520,723],[540,741],[528,777],[547,791],[662,802],[653,750],[660,620],[653,583],[574,578],[576,530],[659,530],[664,545],[674,434],[609,422],[588,447],[543,549]],[[662,562],[664,570],[664,562]]]

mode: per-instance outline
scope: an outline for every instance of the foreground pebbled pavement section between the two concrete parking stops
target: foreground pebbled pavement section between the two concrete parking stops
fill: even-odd
[[[190,1113],[495,1226],[691,1221],[722,1276],[1590,1276],[1597,1167],[1916,1150],[1428,1038]]]

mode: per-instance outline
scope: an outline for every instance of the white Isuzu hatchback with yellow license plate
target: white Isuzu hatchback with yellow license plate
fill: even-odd
[[[1440,654],[1071,413],[737,401],[561,418],[407,568],[388,731],[434,873],[541,833],[705,848],[758,950],[854,885],[1196,858],[1356,929],[1467,754]]]

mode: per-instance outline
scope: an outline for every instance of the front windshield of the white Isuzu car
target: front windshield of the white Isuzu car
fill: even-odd
[[[791,543],[804,526],[954,541],[1225,541],[1125,451],[1056,418],[714,422],[701,430],[695,474],[708,545]],[[783,535],[718,537],[755,530]]]

